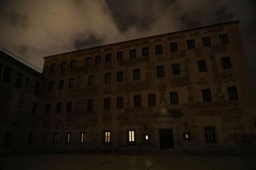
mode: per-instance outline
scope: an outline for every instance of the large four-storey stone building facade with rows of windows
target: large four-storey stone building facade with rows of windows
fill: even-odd
[[[43,92],[31,100],[39,100],[41,109],[32,114],[31,107],[23,107],[31,115],[26,120],[36,123],[30,148],[150,145],[194,152],[255,146],[253,86],[238,25],[221,23],[45,57],[37,77]]]

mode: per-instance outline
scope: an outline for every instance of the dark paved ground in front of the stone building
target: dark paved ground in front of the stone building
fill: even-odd
[[[101,154],[25,154],[0,157],[0,170],[7,169],[209,169],[255,170],[256,157],[196,157],[147,154],[135,156],[109,156]]]

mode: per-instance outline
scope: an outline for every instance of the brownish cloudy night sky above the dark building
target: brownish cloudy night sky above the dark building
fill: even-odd
[[[0,48],[42,68],[45,56],[237,19],[256,77],[255,0],[1,0]]]

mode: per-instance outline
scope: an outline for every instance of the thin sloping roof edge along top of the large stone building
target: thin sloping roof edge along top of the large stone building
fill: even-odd
[[[234,24],[234,23],[239,24],[240,21],[239,21],[239,20],[235,20],[235,21],[230,21],[230,22],[224,22],[224,23],[213,24],[213,25],[209,25],[209,26],[203,26],[203,27],[196,27],[196,28],[184,29],[184,30],[176,31],[176,32],[169,32],[169,33],[164,33],[164,34],[157,34],[157,35],[155,35],[155,36],[142,37],[142,38],[137,38],[137,39],[131,39],[131,40],[128,40],[128,41],[121,41],[121,42],[116,42],[116,43],[111,43],[111,44],[105,44],[105,45],[102,45],[102,46],[96,46],[96,47],[91,47],[91,48],[79,49],[79,50],[71,51],[71,52],[65,52],[65,53],[60,53],[60,54],[54,54],[54,55],[46,56],[46,57],[43,57],[43,58],[54,57],[54,56],[58,56],[58,55],[61,55],[61,54],[68,54],[68,53],[73,53],[73,52],[78,52],[78,51],[85,51],[85,50],[88,50],[88,49],[95,49],[95,48],[100,48],[100,47],[113,46],[113,45],[120,44],[120,43],[127,43],[127,42],[137,41],[137,40],[146,39],[146,38],[153,38],[153,37],[165,36],[165,35],[168,35],[168,34],[175,34],[175,33],[180,33],[180,32],[185,32],[185,31],[193,31],[193,30],[196,30],[196,29],[203,29],[203,28],[209,28],[209,27],[216,27],[216,26],[221,26],[221,25],[226,25],[226,24]]]

